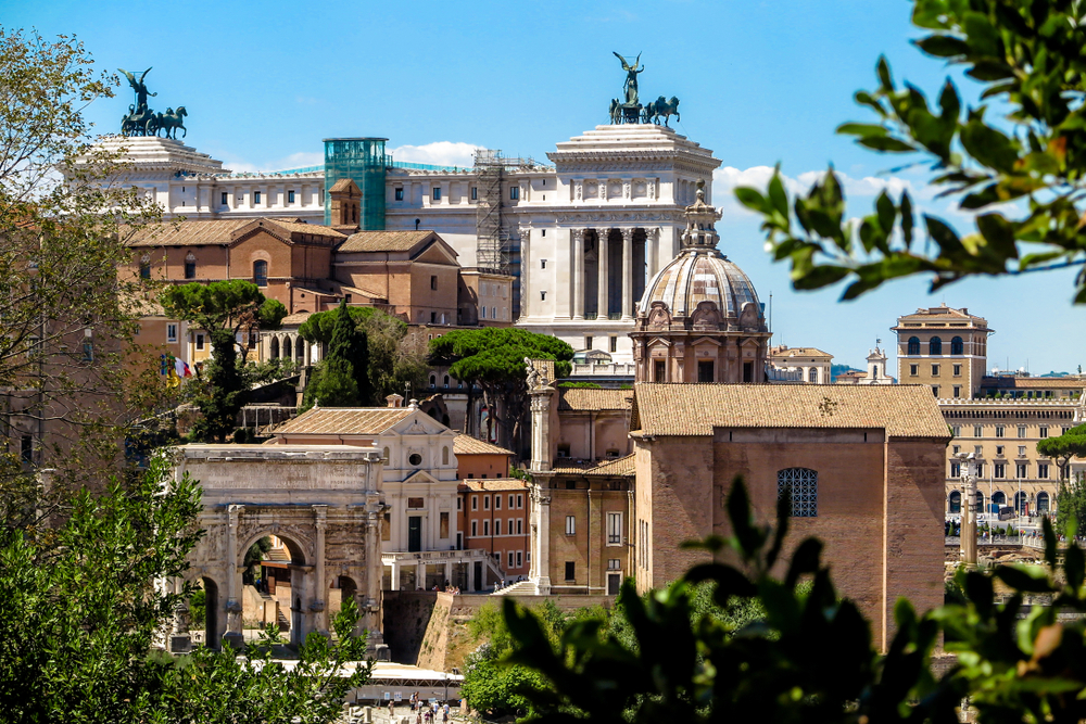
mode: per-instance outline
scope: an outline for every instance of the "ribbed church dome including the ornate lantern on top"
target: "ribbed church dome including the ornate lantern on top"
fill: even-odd
[[[648,282],[637,317],[648,317],[654,306],[662,304],[670,317],[689,318],[700,305],[707,312],[715,307],[721,323],[735,323],[743,316],[744,326],[750,326],[755,316],[760,327],[763,315],[758,293],[743,270],[717,251],[720,237],[714,224],[720,215],[705,203],[700,186],[697,201],[686,207],[682,251]]]

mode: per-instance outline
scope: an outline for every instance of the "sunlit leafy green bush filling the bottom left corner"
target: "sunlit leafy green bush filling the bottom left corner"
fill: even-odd
[[[202,531],[198,483],[172,482],[164,460],[108,493],[81,493],[49,530],[0,529],[0,721],[330,722],[366,681],[365,638],[348,601],[337,640],[312,635],[290,671],[270,642],[174,659],[154,648],[186,596],[156,581],[180,575]]]

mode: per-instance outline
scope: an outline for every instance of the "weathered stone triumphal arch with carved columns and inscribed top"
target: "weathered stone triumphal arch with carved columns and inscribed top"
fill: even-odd
[[[381,640],[381,454],[346,445],[181,445],[174,474],[200,481],[206,531],[185,579],[206,594],[206,645],[242,642],[245,551],[276,536],[290,554],[291,643],[328,631],[329,587],[353,597],[359,628]],[[180,586],[182,580],[174,582]],[[286,586],[283,586],[286,588]],[[189,644],[178,614],[172,648]]]

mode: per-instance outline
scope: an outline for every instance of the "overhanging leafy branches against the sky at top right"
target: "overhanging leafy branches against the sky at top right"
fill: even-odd
[[[976,231],[960,237],[924,215],[921,243],[907,192],[897,200],[884,192],[857,227],[832,168],[794,201],[774,175],[766,192],[742,188],[736,196],[762,216],[774,258],[791,262],[793,285],[819,289],[848,279],[848,300],[918,274],[930,275],[935,290],[970,276],[1086,263],[1084,21],[1081,0],[914,0],[912,23],[924,35],[913,45],[964,67],[982,85],[981,101],[963,109],[947,79],[936,110],[915,86],[895,84],[882,58],[877,88],[856,93],[875,123],[847,123],[837,132],[880,153],[929,163],[940,195],[978,214]],[[997,113],[1005,115],[994,120]],[[1086,302],[1086,275],[1075,283],[1075,302]]]

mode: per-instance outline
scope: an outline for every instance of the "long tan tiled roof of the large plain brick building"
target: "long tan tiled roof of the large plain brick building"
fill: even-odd
[[[949,437],[925,385],[634,385],[631,431],[711,435],[714,428],[882,428],[891,437]]]

